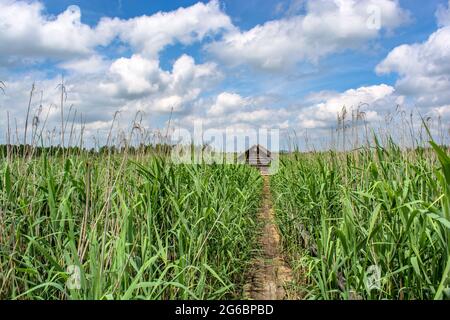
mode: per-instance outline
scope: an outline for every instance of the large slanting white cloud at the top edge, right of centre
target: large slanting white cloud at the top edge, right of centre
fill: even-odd
[[[208,50],[231,65],[279,70],[302,60],[357,48],[409,19],[396,0],[308,0],[306,15],[234,30]]]

